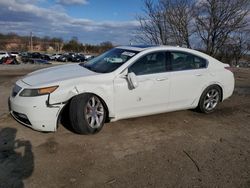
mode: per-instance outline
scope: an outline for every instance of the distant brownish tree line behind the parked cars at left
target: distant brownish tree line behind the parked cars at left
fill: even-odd
[[[32,43],[32,47],[31,47]],[[19,36],[16,33],[0,33],[0,50],[7,51],[42,51],[42,52],[83,52],[99,54],[110,48],[113,44],[109,41],[100,44],[82,44],[77,37],[64,41],[58,37]]]

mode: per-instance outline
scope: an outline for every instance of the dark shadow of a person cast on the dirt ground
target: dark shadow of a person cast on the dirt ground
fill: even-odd
[[[16,140],[17,130],[0,130],[0,188],[22,188],[23,180],[34,170],[32,145],[28,140]]]

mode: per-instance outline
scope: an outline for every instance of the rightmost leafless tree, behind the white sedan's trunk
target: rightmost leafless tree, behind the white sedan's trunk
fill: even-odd
[[[209,55],[216,55],[229,35],[247,25],[249,0],[203,0],[196,4],[196,31]]]

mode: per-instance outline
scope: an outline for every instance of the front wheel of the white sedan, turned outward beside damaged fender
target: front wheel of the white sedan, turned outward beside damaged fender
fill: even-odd
[[[106,118],[102,101],[89,93],[74,97],[70,102],[69,113],[72,128],[79,134],[99,132]]]

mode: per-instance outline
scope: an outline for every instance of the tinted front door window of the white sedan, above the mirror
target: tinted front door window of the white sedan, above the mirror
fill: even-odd
[[[155,52],[143,56],[129,68],[136,75],[154,74],[166,71],[166,53]]]

